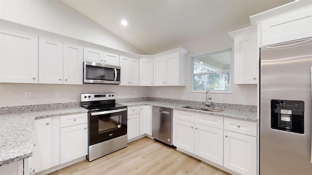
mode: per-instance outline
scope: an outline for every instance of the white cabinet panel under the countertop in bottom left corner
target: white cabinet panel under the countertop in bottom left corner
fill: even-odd
[[[23,160],[0,166],[0,175],[24,175],[23,173]]]

